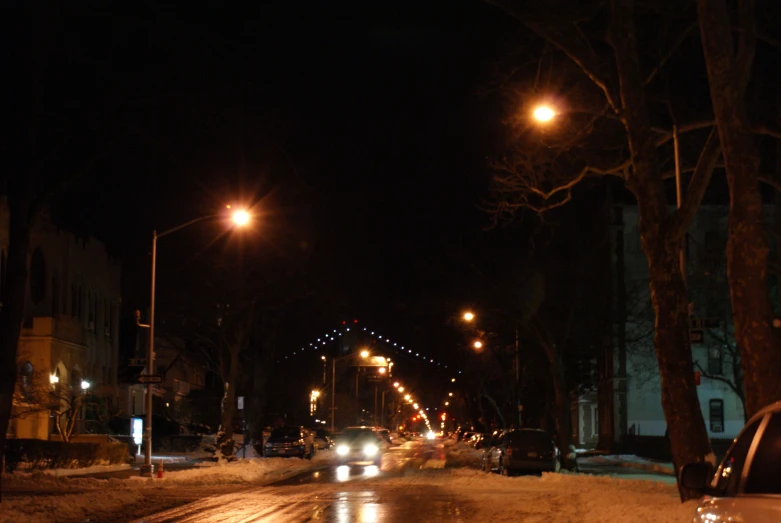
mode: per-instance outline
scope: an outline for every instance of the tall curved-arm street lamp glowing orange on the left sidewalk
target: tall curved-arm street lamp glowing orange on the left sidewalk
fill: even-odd
[[[231,206],[227,205],[226,208],[230,209]],[[149,329],[149,343],[146,353],[146,373],[151,376],[155,372],[155,276],[157,271],[157,240],[163,236],[168,236],[171,233],[189,227],[195,223],[208,220],[211,218],[217,218],[220,214],[209,214],[201,216],[185,222],[181,225],[168,229],[167,231],[158,234],[156,230],[152,231],[152,285],[149,298],[149,324],[143,325],[137,321],[140,327],[146,327]],[[230,216],[231,222],[237,227],[244,227],[250,221],[250,214],[246,210],[239,209],[234,210]],[[136,313],[139,316],[139,313]],[[144,464],[141,465],[141,475],[145,477],[152,477],[154,472],[154,466],[152,465],[152,383],[151,381],[146,384],[146,427],[144,427],[144,436],[146,438],[146,446],[144,449]]]

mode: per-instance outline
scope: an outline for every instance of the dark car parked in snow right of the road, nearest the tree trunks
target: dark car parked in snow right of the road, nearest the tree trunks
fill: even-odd
[[[506,476],[520,471],[558,472],[559,449],[541,429],[497,431],[483,453],[483,468]]]

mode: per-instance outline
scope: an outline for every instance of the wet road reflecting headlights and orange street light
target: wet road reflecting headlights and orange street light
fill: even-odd
[[[139,523],[462,523],[469,507],[435,487],[392,478],[436,474],[441,443],[407,444],[383,456],[381,467],[324,465],[264,486],[210,496],[137,520]]]

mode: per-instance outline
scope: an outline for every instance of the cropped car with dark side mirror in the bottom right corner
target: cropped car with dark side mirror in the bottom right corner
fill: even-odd
[[[705,494],[695,522],[781,521],[781,401],[757,412],[716,472],[709,463],[681,469],[685,488]]]

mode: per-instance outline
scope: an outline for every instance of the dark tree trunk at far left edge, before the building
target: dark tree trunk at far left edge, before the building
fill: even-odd
[[[8,260],[2,281],[0,307],[0,449],[13,408],[16,387],[16,354],[24,320],[24,298],[27,286],[27,253],[30,250],[31,202],[17,200],[9,194]]]

